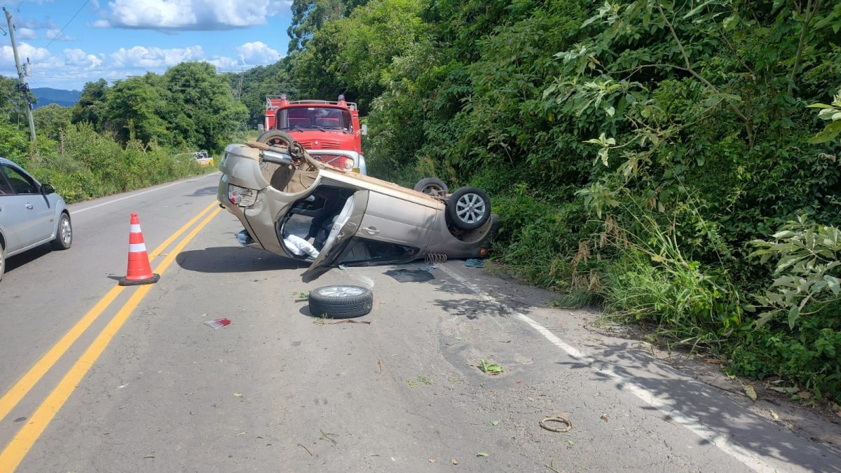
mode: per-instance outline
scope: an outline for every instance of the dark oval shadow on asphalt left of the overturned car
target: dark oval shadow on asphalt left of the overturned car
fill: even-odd
[[[175,261],[178,266],[198,273],[250,273],[307,267],[306,263],[243,247],[209,247],[181,252]]]

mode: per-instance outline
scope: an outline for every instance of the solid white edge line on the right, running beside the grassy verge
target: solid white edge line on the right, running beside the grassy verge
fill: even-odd
[[[663,412],[664,414],[669,416],[670,419],[674,420],[675,423],[679,423],[680,425],[684,426],[685,428],[688,428],[690,431],[695,433],[698,437],[701,437],[707,442],[716,445],[723,452],[729,454],[736,460],[748,466],[748,468],[760,472],[777,471],[775,467],[768,465],[763,459],[757,457],[754,454],[754,452],[729,442],[727,438],[724,437],[721,433],[717,433],[711,428],[708,428],[705,425],[698,423],[696,420],[685,416],[682,412],[677,411],[671,404],[669,404],[669,401],[661,399],[652,391],[648,391],[648,389],[644,388],[643,386],[637,385],[631,378],[618,375],[612,369],[598,368],[595,359],[585,355],[584,353],[581,353],[578,349],[570,346],[569,343],[563,342],[563,340],[558,338],[553,332],[549,331],[549,329],[547,329],[546,327],[543,327],[539,323],[535,322],[531,317],[524,316],[520,312],[515,311],[510,307],[505,306],[505,304],[502,304],[501,302],[495,300],[492,296],[487,295],[479,288],[479,286],[470,283],[467,279],[464,279],[460,274],[456,273],[452,269],[447,268],[444,265],[439,265],[438,268],[441,268],[442,271],[449,274],[453,279],[456,279],[461,284],[464,284],[469,290],[472,290],[474,293],[479,295],[479,297],[483,298],[484,300],[494,302],[496,305],[500,306],[505,312],[507,312],[510,316],[519,319],[521,322],[526,322],[526,324],[528,324],[535,331],[540,333],[549,342],[553,343],[553,345],[555,345],[558,348],[561,348],[572,358],[578,359],[581,363],[590,366],[590,369],[593,369],[594,371],[611,378],[611,380],[616,381],[616,383],[620,385],[621,389],[623,389],[624,391],[632,393],[634,396],[637,396],[639,399],[645,401],[650,406],[656,408],[659,412]],[[606,365],[607,364],[605,364],[605,366]]]

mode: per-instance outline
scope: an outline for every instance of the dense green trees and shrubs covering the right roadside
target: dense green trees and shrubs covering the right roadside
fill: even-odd
[[[839,396],[839,29],[825,0],[296,0],[272,93],[357,101],[378,177],[487,189],[496,268],[560,304]]]

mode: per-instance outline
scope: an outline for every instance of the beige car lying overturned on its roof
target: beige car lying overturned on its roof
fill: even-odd
[[[291,136],[225,149],[219,201],[237,240],[311,261],[304,281],[338,265],[484,256],[495,228],[480,189],[424,194],[315,161]]]

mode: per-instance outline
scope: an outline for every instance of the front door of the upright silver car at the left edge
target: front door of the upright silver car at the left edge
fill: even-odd
[[[8,232],[7,252],[13,252],[34,243],[43,242],[52,236],[54,222],[49,200],[40,192],[40,186],[29,174],[18,167],[0,165],[13,194],[3,203],[3,224]],[[11,247],[14,246],[14,249]]]

